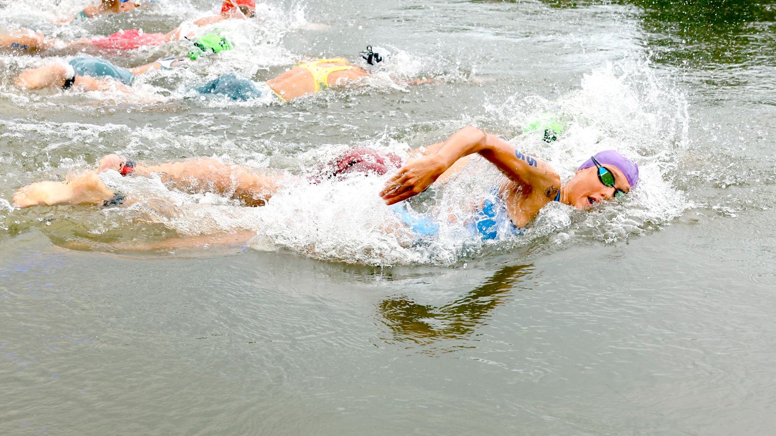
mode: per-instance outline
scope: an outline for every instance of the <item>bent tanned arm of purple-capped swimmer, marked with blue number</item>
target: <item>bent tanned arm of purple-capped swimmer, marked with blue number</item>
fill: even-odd
[[[544,161],[522,154],[508,142],[473,126],[453,133],[434,154],[407,161],[379,195],[387,205],[406,200],[423,192],[461,157],[480,154],[506,175],[515,189],[525,196],[535,189],[542,192],[560,189],[560,177]]]

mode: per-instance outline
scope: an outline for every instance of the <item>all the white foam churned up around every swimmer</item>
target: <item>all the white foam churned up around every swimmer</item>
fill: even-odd
[[[60,5],[61,8],[71,6],[76,10],[83,7],[76,2]],[[189,2],[170,2],[164,11],[165,21],[175,25],[212,12],[204,4]],[[248,164],[256,171],[283,168],[299,176],[300,180],[287,185],[261,208],[241,207],[220,196],[171,190],[159,178],[120,178],[109,171],[101,175],[103,181],[133,198],[134,202],[128,208],[111,209],[103,215],[106,219],[124,216],[130,221],[135,217],[157,223],[181,236],[251,230],[257,235],[251,242],[251,247],[256,249],[284,249],[327,261],[368,265],[460,265],[470,259],[504,252],[534,256],[590,240],[615,243],[662,227],[693,206],[674,187],[673,175],[676,162],[688,151],[687,101],[673,85],[658,77],[650,62],[642,56],[634,55],[594,67],[584,74],[576,88],[556,99],[525,92],[494,95],[482,106],[474,107],[470,114],[458,115],[455,119],[437,118],[424,122],[404,114],[411,120],[406,125],[385,126],[371,134],[360,134],[357,140],[348,139],[349,134],[363,132],[350,123],[341,123],[335,125],[340,127],[340,133],[329,141],[330,144],[300,144],[286,139],[283,134],[291,120],[316,123],[309,127],[314,133],[315,125],[325,126],[328,119],[333,119],[325,111],[334,106],[347,109],[351,104],[348,100],[358,96],[379,93],[396,94],[399,100],[414,98],[417,88],[397,83],[394,78],[434,78],[437,86],[446,90],[455,85],[469,85],[475,68],[449,56],[403,50],[391,45],[390,40],[375,40],[370,43],[388,47],[393,53],[392,59],[372,77],[344,89],[282,104],[268,104],[262,100],[234,102],[202,96],[192,98],[192,87],[221,74],[236,73],[262,81],[300,59],[334,55],[331,50],[294,53],[286,49],[284,38],[289,33],[311,29],[304,9],[299,5],[279,7],[263,3],[258,5],[257,12],[260,18],[249,22],[229,20],[197,30],[197,33],[221,33],[230,40],[234,50],[202,56],[184,67],[139,76],[129,94],[111,90],[19,92],[12,81],[5,78],[0,81],[2,99],[19,109],[37,112],[40,118],[63,107],[68,107],[74,117],[114,118],[103,126],[45,119],[7,123],[0,140],[24,143],[34,135],[57,138],[49,140],[50,144],[41,151],[50,157],[39,157],[35,163],[38,170],[35,176],[39,178],[51,178],[52,169],[62,178],[66,171],[87,168],[87,162],[94,162],[99,155],[111,152],[148,161],[205,154],[215,155],[227,163]],[[19,17],[26,12],[11,8],[9,13],[10,19],[19,22]],[[40,19],[35,14],[41,13],[51,14],[54,9],[43,8],[32,16]],[[129,20],[126,24],[135,19],[131,14],[124,15],[113,18]],[[85,32],[99,31],[99,27],[90,27],[93,23],[87,24],[56,27],[58,30],[54,35],[67,40],[71,39],[69,36],[74,38]],[[320,46],[310,49],[317,50]],[[129,55],[129,59],[134,64],[141,64],[157,57],[185,54],[188,50],[188,42],[178,41],[145,51],[137,50]],[[356,64],[360,62],[355,52],[349,58]],[[21,71],[41,61],[47,60],[0,56],[0,62],[9,71]],[[400,114],[400,106],[398,104],[397,109],[388,112]],[[161,126],[149,123],[130,130],[120,124],[125,112],[126,119],[132,119],[135,112],[140,112],[140,117],[153,116],[154,112],[174,113],[162,116]],[[245,130],[245,136],[238,133],[241,132],[239,126],[250,126],[264,113],[274,119],[268,125],[268,131]],[[542,141],[542,132],[521,133],[525,126],[548,113],[566,126],[558,140],[547,144]],[[407,151],[423,146],[427,138],[442,140],[445,134],[467,123],[500,134],[521,152],[549,162],[563,181],[571,178],[577,165],[587,157],[614,148],[639,164],[641,182],[625,199],[607,202],[588,211],[550,203],[521,236],[504,233],[496,241],[483,242],[469,233],[466,222],[471,220],[473,210],[489,195],[488,192],[504,179],[492,165],[480,159],[475,159],[469,171],[445,186],[436,186],[410,202],[414,213],[432,216],[440,225],[437,235],[422,240],[411,234],[397,214],[377,196],[388,176],[351,175],[320,184],[304,180],[317,165],[349,147],[373,147],[406,157]],[[79,152],[71,156],[66,149]],[[18,160],[19,164],[24,160],[23,156],[10,158]],[[54,165],[49,163],[52,159]],[[30,164],[23,164],[23,168],[29,169]],[[25,177],[29,179],[26,182],[34,180]],[[11,214],[5,219],[11,220]],[[455,220],[448,220],[448,216]],[[88,220],[94,222],[92,218]],[[113,227],[126,223],[115,221]],[[109,228],[111,226],[105,227]]]

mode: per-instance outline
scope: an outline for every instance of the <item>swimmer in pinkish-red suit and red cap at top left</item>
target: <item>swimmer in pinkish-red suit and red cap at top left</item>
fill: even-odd
[[[9,29],[0,34],[0,48],[26,52],[57,50],[65,53],[85,50],[135,50],[140,47],[160,46],[171,41],[194,39],[196,29],[199,27],[209,26],[225,19],[248,19],[255,16],[255,0],[224,0],[219,15],[183,22],[181,26],[168,33],[144,33],[140,29],[128,29],[110,36],[65,42],[47,38],[43,33],[29,29]]]

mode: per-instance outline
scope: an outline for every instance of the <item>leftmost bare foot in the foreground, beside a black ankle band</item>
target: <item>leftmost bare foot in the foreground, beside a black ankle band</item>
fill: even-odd
[[[13,202],[24,208],[59,204],[100,204],[113,197],[113,192],[94,173],[72,178],[68,182],[36,182],[13,195]]]

